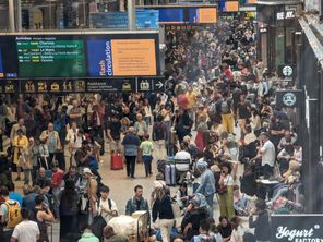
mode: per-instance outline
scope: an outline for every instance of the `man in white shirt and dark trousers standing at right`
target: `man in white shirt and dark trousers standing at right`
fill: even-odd
[[[260,135],[261,148],[258,152],[256,157],[252,160],[255,160],[261,157],[261,166],[263,176],[270,178],[274,173],[274,166],[276,159],[276,150],[274,144],[270,141],[270,134],[262,132]]]

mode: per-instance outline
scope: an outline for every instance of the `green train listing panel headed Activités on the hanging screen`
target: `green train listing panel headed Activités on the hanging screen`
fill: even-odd
[[[17,37],[16,49],[20,77],[77,77],[85,75],[85,55],[82,40]]]

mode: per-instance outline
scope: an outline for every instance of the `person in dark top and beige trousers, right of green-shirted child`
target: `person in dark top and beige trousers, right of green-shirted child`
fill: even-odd
[[[153,125],[153,141],[156,147],[156,160],[165,159],[166,157],[166,141],[168,140],[168,130],[163,122],[163,117],[157,116],[157,122]]]

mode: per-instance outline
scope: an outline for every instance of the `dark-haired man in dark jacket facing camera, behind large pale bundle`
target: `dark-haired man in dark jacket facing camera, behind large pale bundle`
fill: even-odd
[[[146,210],[149,213],[148,202],[143,197],[143,186],[134,186],[134,196],[127,202],[125,215],[131,216],[134,211]]]

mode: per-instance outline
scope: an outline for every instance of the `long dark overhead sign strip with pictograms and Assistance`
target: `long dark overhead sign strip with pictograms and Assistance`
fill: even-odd
[[[165,77],[2,80],[0,94],[164,92]]]

